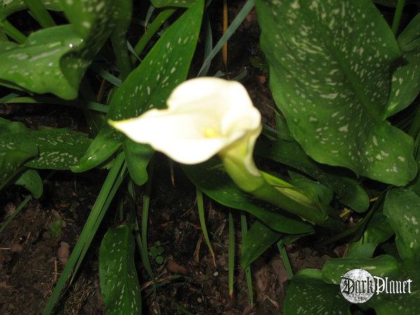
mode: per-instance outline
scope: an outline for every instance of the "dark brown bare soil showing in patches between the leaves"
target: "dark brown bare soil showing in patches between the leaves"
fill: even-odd
[[[243,1],[232,3],[230,16],[235,16]],[[262,111],[265,123],[274,126],[274,104],[267,87],[267,73],[251,66],[249,59],[260,57],[258,32],[255,11],[252,11],[230,41],[229,59],[235,62],[228,66],[235,70],[228,76],[234,78],[247,71],[243,82],[255,106]],[[247,38],[246,41],[243,38]],[[220,59],[216,60],[210,74],[217,69],[223,69]],[[50,125],[87,131],[80,123],[83,122],[80,113],[55,106],[6,105],[0,107],[0,115],[21,120],[28,127]],[[43,173],[43,177],[46,174]],[[105,174],[55,174],[46,181],[41,200],[31,200],[0,235],[0,314],[42,313],[66,258],[78,240]],[[205,200],[207,228],[216,252],[215,265],[202,239],[195,188],[176,165],[171,174],[168,160],[161,155],[157,157],[154,177],[148,242],[149,248],[160,242],[164,248],[164,262],[159,264],[152,259],[160,283],[158,290],[153,290],[141,259],[136,258],[140,283],[144,288],[144,314],[186,314],[183,308],[193,314],[281,314],[288,277],[278,251],[272,248],[252,265],[255,307],[251,309],[249,306],[245,275],[239,263],[235,269],[235,296],[231,300],[228,295],[227,209]],[[143,188],[138,188],[139,220],[142,192]],[[3,190],[0,223],[6,221],[25,195],[25,190],[15,186]],[[57,314],[104,313],[99,293],[98,249],[106,229],[118,224],[116,209],[116,205],[110,207],[80,271],[56,307]],[[235,221],[239,223],[239,215],[235,215]],[[236,237],[237,244],[240,244],[240,232]],[[288,246],[286,250],[294,272],[321,267],[328,259],[322,251],[302,244]],[[238,261],[239,254],[238,246]],[[181,277],[175,279],[174,274]]]

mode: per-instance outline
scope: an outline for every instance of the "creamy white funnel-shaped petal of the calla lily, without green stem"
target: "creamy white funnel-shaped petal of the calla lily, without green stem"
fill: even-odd
[[[167,109],[109,123],[130,139],[150,144],[183,164],[204,162],[245,141],[246,151],[251,152],[243,152],[243,145],[239,151],[242,158],[251,160],[253,169],[252,151],[261,131],[261,116],[243,85],[221,78],[187,80],[176,87],[167,105]]]

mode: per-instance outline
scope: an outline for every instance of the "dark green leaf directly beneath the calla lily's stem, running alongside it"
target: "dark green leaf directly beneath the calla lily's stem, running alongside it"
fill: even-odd
[[[295,220],[272,204],[262,202],[237,188],[228,174],[218,169],[218,160],[211,159],[199,165],[183,165],[188,179],[211,199],[223,206],[244,210],[257,217],[269,228],[288,234],[313,232],[311,225]]]

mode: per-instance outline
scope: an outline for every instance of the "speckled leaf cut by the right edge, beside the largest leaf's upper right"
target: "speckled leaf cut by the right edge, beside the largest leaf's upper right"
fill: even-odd
[[[386,116],[392,116],[412,104],[420,91],[420,15],[398,36],[403,52],[402,64],[393,73]]]

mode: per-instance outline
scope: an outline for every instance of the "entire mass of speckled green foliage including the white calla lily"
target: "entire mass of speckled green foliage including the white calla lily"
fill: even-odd
[[[82,283],[81,269],[93,266],[91,251],[98,252],[97,290],[106,314],[192,314],[192,302],[142,304],[168,283],[190,280],[169,257],[167,243],[149,241],[153,192],[170,198],[155,179],[162,161],[173,184],[176,174],[193,186],[198,244],[204,239],[215,266],[218,236],[209,228],[207,202],[223,206],[226,289],[231,303],[246,295],[244,314],[267,312],[260,299],[255,303],[261,280],[252,268],[276,251],[286,295],[265,300],[276,313],[416,314],[416,1],[247,0],[230,19],[229,6],[204,0],[0,0],[1,104],[66,108],[85,126],[34,127],[0,118],[0,189],[5,196],[29,192],[4,216],[0,237],[33,198],[47,198],[44,186],[54,176],[71,174],[75,187],[83,176],[100,179],[74,246],[59,245],[63,267],[57,272],[55,265],[43,314],[69,312],[66,291]],[[219,13],[223,18],[215,22]],[[254,72],[230,71],[235,59],[228,45],[255,13],[260,39],[247,60]],[[260,83],[253,91],[246,89],[252,75]],[[269,113],[259,104],[263,86],[273,100]],[[167,205],[170,212],[168,207],[173,205]],[[59,215],[49,223],[51,239],[60,240],[62,225]],[[290,250],[302,244],[323,248],[330,259],[293,268]],[[241,292],[235,289],[238,262]],[[162,276],[162,268],[173,274]],[[411,293],[352,304],[340,294],[340,282],[357,268],[411,279]],[[0,279],[0,288],[7,283]]]

